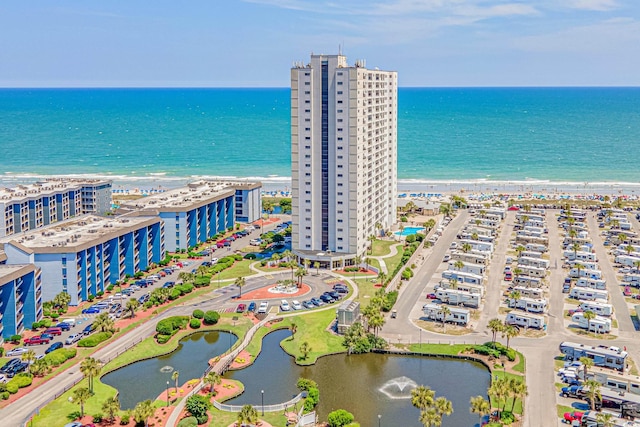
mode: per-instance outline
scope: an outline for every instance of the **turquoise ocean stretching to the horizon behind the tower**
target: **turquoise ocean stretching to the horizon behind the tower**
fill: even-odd
[[[400,88],[399,187],[640,185],[640,88]],[[0,89],[0,184],[286,188],[289,89]],[[640,192],[640,186],[638,187]]]

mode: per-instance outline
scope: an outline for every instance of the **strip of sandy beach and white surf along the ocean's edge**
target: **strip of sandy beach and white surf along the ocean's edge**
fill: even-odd
[[[237,177],[215,175],[169,176],[163,173],[149,173],[144,176],[127,176],[116,174],[65,174],[46,175],[30,173],[9,173],[0,175],[0,185],[14,187],[20,184],[31,184],[47,178],[79,178],[109,179],[113,181],[114,194],[153,194],[185,186],[199,179],[218,179],[233,181],[260,181],[263,192],[267,196],[282,196],[291,188],[291,178],[286,176]],[[423,193],[423,197],[431,194],[476,194],[504,195],[527,194],[546,195],[609,195],[640,196],[640,182],[617,181],[550,181],[550,180],[488,180],[488,179],[398,179],[398,194]],[[269,194],[276,193],[276,194]],[[407,194],[409,195],[409,194]]]

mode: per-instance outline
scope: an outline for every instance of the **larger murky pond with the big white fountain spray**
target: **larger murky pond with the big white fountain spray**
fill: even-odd
[[[473,426],[478,417],[469,413],[472,396],[486,396],[490,375],[480,363],[389,354],[339,354],[322,357],[313,366],[294,363],[279,346],[290,332],[281,330],[264,338],[262,352],[255,363],[225,378],[242,381],[245,392],[226,403],[258,405],[281,403],[298,393],[300,377],[313,379],[320,389],[320,419],[336,409],[353,413],[362,426],[421,426],[419,411],[411,405],[411,390],[425,385],[436,396],[451,400],[454,413],[445,417],[443,426]]]

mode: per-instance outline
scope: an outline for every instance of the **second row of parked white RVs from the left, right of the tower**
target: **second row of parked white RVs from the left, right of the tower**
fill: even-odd
[[[543,314],[548,306],[543,286],[549,270],[545,211],[531,208],[518,212],[514,230],[512,246],[518,258],[513,268],[514,260],[508,257],[504,269],[505,282],[510,285],[505,303],[512,309],[505,322],[517,327],[542,329],[545,325]]]

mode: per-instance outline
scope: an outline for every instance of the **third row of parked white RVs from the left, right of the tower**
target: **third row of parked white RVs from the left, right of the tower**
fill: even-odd
[[[596,333],[611,332],[613,306],[609,304],[606,281],[593,250],[593,243],[587,227],[587,213],[582,210],[562,210],[559,225],[564,229],[563,267],[568,270],[563,283],[563,292],[569,298],[579,301],[576,308],[571,306],[571,324]],[[585,316],[586,312],[595,318]]]

